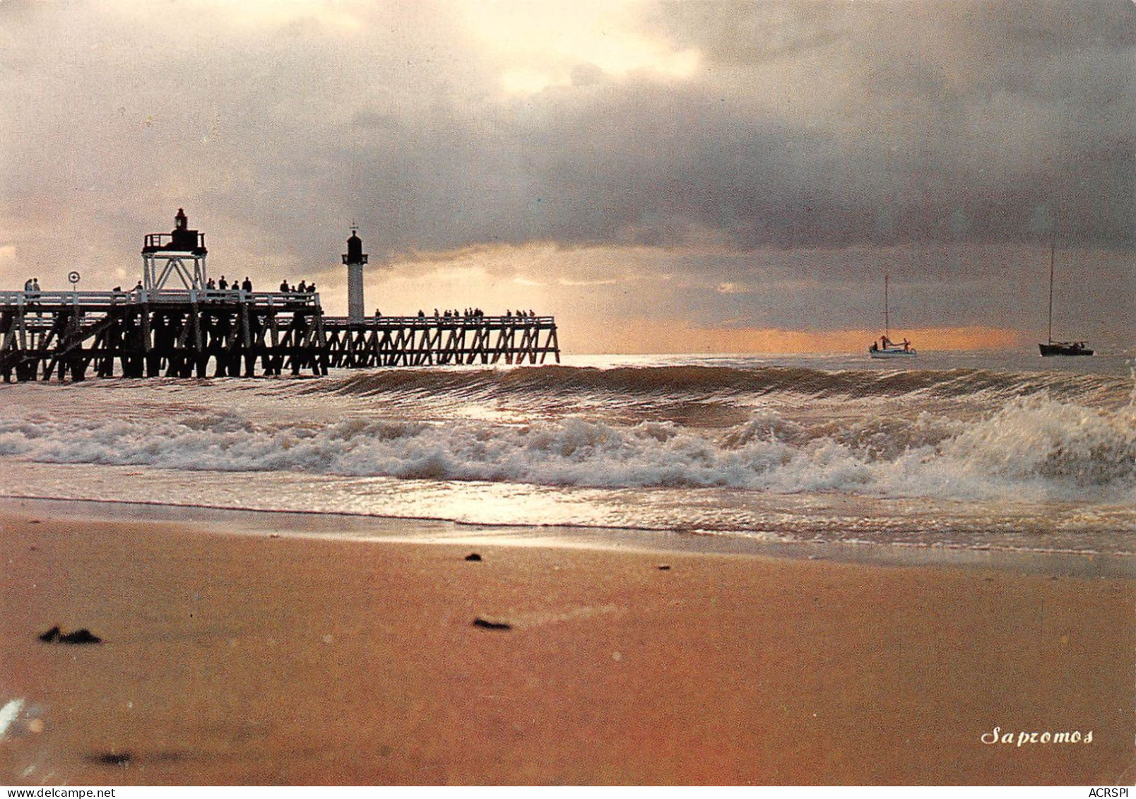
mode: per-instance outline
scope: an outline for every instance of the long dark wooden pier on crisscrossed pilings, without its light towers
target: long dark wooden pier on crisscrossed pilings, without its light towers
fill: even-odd
[[[551,316],[324,316],[319,294],[0,292],[5,382],[560,361]]]

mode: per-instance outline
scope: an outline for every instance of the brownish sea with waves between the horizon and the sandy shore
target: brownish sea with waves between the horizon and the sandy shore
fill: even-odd
[[[567,356],[0,398],[8,497],[805,551],[1136,551],[1131,351]]]

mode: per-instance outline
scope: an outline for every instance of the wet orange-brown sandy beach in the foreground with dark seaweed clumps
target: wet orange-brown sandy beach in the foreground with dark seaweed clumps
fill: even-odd
[[[1124,564],[350,541],[270,517],[237,535],[10,500],[0,516],[0,783],[1136,774]],[[41,642],[53,626],[102,642]]]

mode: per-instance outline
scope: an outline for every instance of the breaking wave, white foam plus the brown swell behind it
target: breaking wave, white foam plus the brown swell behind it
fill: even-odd
[[[329,394],[395,398],[409,418],[258,417],[232,407],[157,421],[17,415],[0,418],[0,456],[184,471],[1008,502],[1136,497],[1136,403],[1130,382],[1119,378],[966,369],[560,367],[389,372],[286,388],[321,403]],[[502,423],[420,418],[406,408],[411,394],[475,405],[520,396],[548,408],[574,392],[588,393],[594,401],[584,405],[593,410],[645,402],[654,393],[663,406],[726,400],[734,413],[700,426],[676,415],[627,421],[619,414],[545,413]],[[771,396],[776,401],[742,401]],[[976,396],[985,399],[976,402]],[[818,409],[802,397],[830,401]],[[949,397],[967,397],[968,403],[944,410],[933,401]],[[883,413],[880,398],[897,410]]]

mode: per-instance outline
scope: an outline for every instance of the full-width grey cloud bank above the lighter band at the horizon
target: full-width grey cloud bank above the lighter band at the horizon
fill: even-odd
[[[646,34],[700,53],[692,75],[582,61],[524,97],[452,7],[344,6],[350,36],[192,8],[0,6],[9,220],[98,218],[87,241],[120,250],[193,203],[214,241],[306,263],[352,219],[375,261],[1034,242],[1054,218],[1064,241],[1133,244],[1128,1],[649,7]]]

